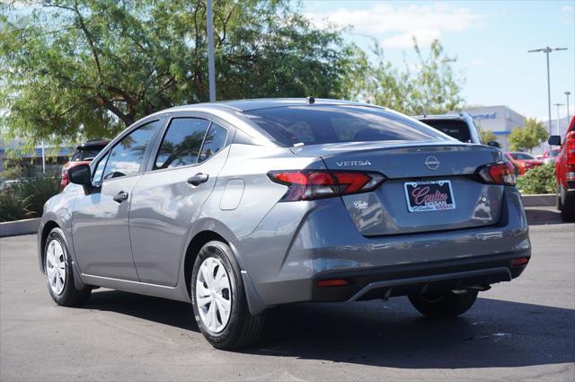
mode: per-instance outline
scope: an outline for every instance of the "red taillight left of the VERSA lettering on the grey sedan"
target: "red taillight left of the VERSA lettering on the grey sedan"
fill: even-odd
[[[381,173],[326,170],[271,171],[270,180],[288,186],[281,201],[315,200],[372,191],[385,181]]]

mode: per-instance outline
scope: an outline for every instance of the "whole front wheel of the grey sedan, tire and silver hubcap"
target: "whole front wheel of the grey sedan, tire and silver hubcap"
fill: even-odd
[[[82,306],[90,298],[92,289],[76,289],[74,270],[68,254],[64,232],[50,231],[44,245],[44,272],[50,297],[59,306]]]

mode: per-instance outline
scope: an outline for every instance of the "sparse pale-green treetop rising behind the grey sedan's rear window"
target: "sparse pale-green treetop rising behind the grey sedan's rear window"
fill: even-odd
[[[375,46],[375,65],[367,62],[360,49],[349,52],[354,57],[351,60],[354,70],[346,72],[347,94],[410,115],[440,114],[460,108],[463,81],[452,68],[456,58],[448,57],[438,40],[431,43],[426,57],[413,39],[419,61],[415,70],[407,65],[398,70],[385,60],[384,50],[377,43]]]

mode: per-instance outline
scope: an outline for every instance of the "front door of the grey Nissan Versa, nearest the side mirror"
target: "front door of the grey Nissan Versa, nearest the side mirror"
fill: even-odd
[[[138,280],[129,241],[129,203],[160,126],[161,120],[153,120],[132,129],[93,167],[93,191],[75,202],[72,216],[75,255],[83,273]]]

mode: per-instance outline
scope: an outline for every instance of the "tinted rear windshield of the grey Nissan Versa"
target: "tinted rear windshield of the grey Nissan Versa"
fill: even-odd
[[[417,120],[368,106],[286,106],[243,114],[284,146],[449,139]]]

